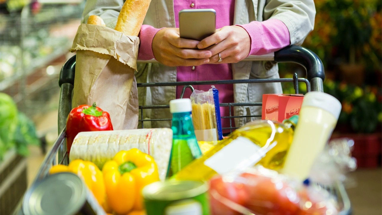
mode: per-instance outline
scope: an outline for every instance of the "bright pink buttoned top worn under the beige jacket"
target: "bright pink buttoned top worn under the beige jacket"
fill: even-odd
[[[193,3],[193,7],[191,4]],[[179,11],[183,9],[207,9],[214,8],[216,11],[216,28],[233,25],[235,0],[203,1],[203,0],[174,0],[175,25],[179,28]],[[229,16],[227,16],[227,14]],[[274,52],[290,45],[290,35],[285,24],[276,19],[262,22],[253,21],[240,25],[251,37],[251,50],[249,55],[263,55]],[[149,60],[154,58],[152,53],[152,39],[159,31],[149,25],[143,25],[139,34],[141,41],[139,45],[138,59]],[[177,81],[201,81],[201,80],[232,80],[231,64],[204,64],[193,67],[177,67]],[[208,91],[211,86],[194,85],[197,90]],[[233,85],[215,85],[219,90],[219,102],[233,102]],[[176,87],[176,98],[180,97],[183,86]],[[189,98],[190,91],[187,89],[184,98]],[[221,116],[229,116],[228,107],[220,108]],[[233,113],[233,111],[232,111]],[[233,121],[232,121],[233,123]],[[228,119],[222,119],[222,126],[230,127]],[[234,126],[234,125],[233,125]],[[223,131],[224,133],[225,131]],[[226,131],[228,132],[228,131]]]

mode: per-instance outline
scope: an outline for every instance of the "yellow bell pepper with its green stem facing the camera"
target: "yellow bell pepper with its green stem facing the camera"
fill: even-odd
[[[158,167],[152,156],[133,148],[118,152],[102,168],[108,205],[118,214],[141,210],[142,188],[159,181]]]

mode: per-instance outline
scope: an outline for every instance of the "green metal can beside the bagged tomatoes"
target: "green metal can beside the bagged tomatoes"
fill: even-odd
[[[208,186],[199,181],[158,181],[142,190],[147,215],[209,215]]]

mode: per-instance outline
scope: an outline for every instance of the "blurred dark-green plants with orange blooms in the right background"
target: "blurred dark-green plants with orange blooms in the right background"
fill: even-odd
[[[380,132],[382,121],[382,1],[315,0],[314,30],[303,47],[315,52],[325,67],[324,91],[342,103],[336,130]],[[280,76],[306,77],[304,68],[280,64]],[[284,93],[295,93],[283,83]],[[299,83],[299,93],[306,93]],[[379,130],[378,130],[379,129]]]

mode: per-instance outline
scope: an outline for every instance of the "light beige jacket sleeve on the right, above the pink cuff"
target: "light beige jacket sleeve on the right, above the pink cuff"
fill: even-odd
[[[278,19],[288,28],[290,44],[301,45],[314,28],[316,8],[313,0],[267,0],[264,20]]]

